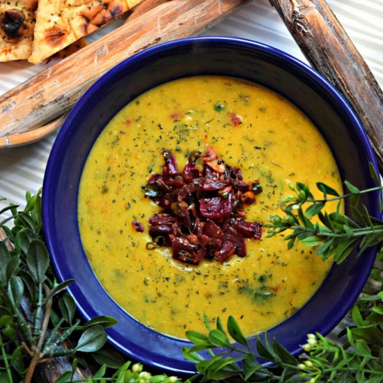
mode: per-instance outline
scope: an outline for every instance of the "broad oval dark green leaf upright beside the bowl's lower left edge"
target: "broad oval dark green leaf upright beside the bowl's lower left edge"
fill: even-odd
[[[49,267],[49,254],[45,244],[33,240],[26,253],[26,265],[37,283],[45,281],[45,272]]]

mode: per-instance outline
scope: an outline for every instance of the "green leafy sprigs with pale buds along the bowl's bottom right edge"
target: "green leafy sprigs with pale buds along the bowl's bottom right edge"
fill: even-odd
[[[192,380],[201,382],[382,382],[382,349],[376,354],[363,338],[356,338],[347,329],[346,346],[329,341],[320,334],[308,334],[302,346],[306,355],[294,357],[274,338],[256,340],[256,352],[251,350],[239,325],[228,318],[227,333],[218,318],[217,328],[208,327],[208,334],[188,331],[187,338],[193,347],[184,347],[186,359],[196,364],[198,375]],[[382,334],[380,334],[382,336]],[[231,343],[228,336],[236,343]],[[218,350],[219,353],[214,353]],[[208,352],[205,359],[201,352]],[[232,357],[235,353],[235,357]],[[260,361],[271,362],[263,366]],[[240,364],[239,364],[240,362]]]

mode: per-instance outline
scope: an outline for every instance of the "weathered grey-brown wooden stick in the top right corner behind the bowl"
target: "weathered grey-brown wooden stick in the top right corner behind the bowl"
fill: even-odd
[[[269,0],[313,68],[340,91],[364,125],[383,172],[383,93],[325,0]]]

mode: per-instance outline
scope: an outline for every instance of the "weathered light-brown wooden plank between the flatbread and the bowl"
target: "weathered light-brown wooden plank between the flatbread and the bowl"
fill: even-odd
[[[150,0],[120,28],[0,97],[0,148],[37,141],[107,70],[146,47],[201,33],[249,0]],[[154,8],[153,8],[154,6]],[[45,125],[49,123],[49,125]]]

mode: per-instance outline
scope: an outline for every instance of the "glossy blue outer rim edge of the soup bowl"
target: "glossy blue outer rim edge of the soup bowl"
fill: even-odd
[[[286,61],[289,65],[296,68],[297,70],[302,71],[307,77],[311,77],[313,81],[315,81],[326,93],[331,95],[333,99],[335,100],[336,104],[342,109],[345,114],[347,115],[347,118],[349,118],[352,121],[352,125],[355,127],[355,133],[357,134],[358,138],[361,140],[361,146],[364,147],[364,150],[366,150],[366,154],[368,155],[368,159],[370,162],[373,163],[373,166],[375,167],[375,170],[377,170],[377,162],[375,159],[375,155],[373,153],[373,149],[370,146],[370,143],[368,141],[368,137],[366,135],[366,132],[364,131],[363,126],[361,125],[359,119],[357,118],[356,114],[352,110],[349,104],[343,99],[343,96],[336,90],[336,88],[325,79],[325,77],[322,77],[318,72],[313,70],[310,66],[308,66],[306,63],[303,63],[298,58],[295,58],[294,56],[281,51],[278,48],[263,44],[261,42],[256,42],[253,40],[248,40],[244,38],[235,38],[235,37],[228,37],[228,36],[197,36],[197,37],[191,37],[191,38],[182,38],[178,40],[172,40],[169,42],[164,42],[159,45],[155,45],[153,47],[149,47],[137,54],[134,54],[134,56],[131,56],[130,58],[125,59],[125,61],[119,63],[116,65],[116,67],[109,70],[107,73],[102,75],[100,79],[95,81],[95,83],[91,86],[91,88],[82,95],[80,100],[75,104],[75,107],[73,107],[72,111],[70,111],[70,114],[65,120],[65,123],[63,123],[63,126],[61,127],[60,132],[58,132],[58,136],[56,137],[56,141],[54,143],[54,146],[52,148],[52,151],[49,155],[49,159],[47,162],[47,168],[45,171],[45,177],[43,182],[43,198],[42,198],[42,219],[43,219],[43,228],[45,233],[45,239],[47,242],[47,247],[49,249],[49,253],[54,253],[52,249],[54,249],[54,234],[49,230],[49,215],[51,210],[51,206],[54,205],[51,199],[51,190],[54,189],[54,182],[51,182],[52,178],[49,177],[49,174],[54,174],[55,172],[55,163],[60,161],[61,156],[61,150],[65,150],[65,136],[67,134],[67,131],[70,130],[70,126],[72,125],[72,121],[77,118],[77,116],[81,115],[81,109],[84,108],[84,105],[88,102],[88,100],[92,97],[93,93],[100,93],[100,90],[103,88],[104,84],[107,84],[110,81],[113,81],[113,79],[118,76],[120,72],[123,72],[125,70],[125,67],[127,65],[132,65],[136,61],[139,61],[143,58],[148,58],[151,55],[156,54],[159,51],[162,51],[164,49],[175,49],[182,45],[194,45],[198,43],[210,43],[214,45],[219,44],[231,44],[231,45],[237,45],[242,47],[248,47],[251,49],[258,49],[260,52],[267,52],[271,56],[277,57],[279,59],[282,59],[283,61]],[[46,192],[45,192],[46,191]],[[377,196],[377,194],[375,194]],[[381,214],[379,212],[379,209],[377,208],[375,211],[371,212],[375,217],[381,217]],[[60,260],[57,258],[52,258],[52,267],[54,268],[54,271],[56,273],[56,276],[58,278],[58,281],[63,281],[64,276],[61,273],[61,267],[60,267]],[[338,315],[334,316],[334,320],[331,321],[331,323],[323,323],[322,327],[318,329],[318,332],[323,335],[327,335],[331,329],[333,329],[338,322],[342,320],[342,318],[345,316],[347,311],[350,309],[352,304],[355,302],[357,297],[359,296],[359,293],[361,289],[364,287],[368,276],[370,275],[370,269],[373,267],[373,262],[375,260],[375,249],[370,249],[368,251],[368,254],[366,254],[366,263],[367,267],[364,268],[364,272],[361,273],[361,276],[359,278],[359,285],[354,290],[352,294],[347,299],[347,302],[343,302],[343,305],[341,306],[340,310],[338,311]],[[69,292],[70,288],[68,288]],[[77,299],[75,299],[77,302]],[[86,314],[86,309],[84,309],[84,304],[81,305],[81,302],[77,302],[77,308],[81,312],[82,315],[84,315],[85,318],[88,319]],[[100,314],[101,315],[101,314]],[[125,348],[120,347],[118,343],[114,341],[114,339],[109,339],[111,343],[114,344],[115,347],[117,347],[119,350],[126,352]],[[185,343],[189,344],[187,341]],[[292,354],[299,354],[302,352],[302,347],[300,345],[297,345],[295,350],[289,350],[292,352]],[[137,360],[141,361],[143,364],[147,364],[154,367],[161,367],[164,370],[167,370],[169,372],[179,372],[181,374],[190,374],[194,373],[194,371],[190,370],[189,368],[185,368],[185,370],[175,370],[171,367],[167,368],[168,366],[159,366],[158,364],[153,364],[153,361],[150,359],[146,359],[145,357],[137,357],[134,354],[134,351],[130,354],[131,357],[135,357]]]

